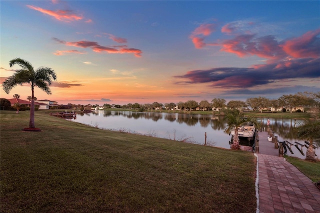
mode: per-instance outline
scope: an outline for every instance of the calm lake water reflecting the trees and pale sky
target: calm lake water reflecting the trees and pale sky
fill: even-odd
[[[230,135],[223,133],[226,125],[223,116],[218,115],[97,110],[77,114],[76,119],[72,121],[98,128],[186,140],[197,144],[204,144],[206,132],[208,145],[230,148]],[[266,121],[267,118],[260,118],[260,130],[266,130]],[[292,131],[297,122],[302,122],[302,120],[270,118],[270,127],[275,132],[275,136],[278,136],[279,141],[288,140],[291,143],[297,141],[304,144],[304,141],[298,140]],[[294,154],[289,151],[287,154],[300,158],[305,157],[294,146],[292,150]],[[305,153],[306,147],[303,147],[302,150]],[[316,154],[320,155],[318,148]]]

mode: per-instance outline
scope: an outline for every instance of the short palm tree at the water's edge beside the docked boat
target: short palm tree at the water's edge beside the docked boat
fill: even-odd
[[[231,144],[231,149],[240,149],[239,144],[239,136],[238,136],[238,127],[241,126],[243,123],[251,122],[255,125],[255,127],[258,127],[260,125],[258,119],[253,116],[247,116],[243,117],[242,114],[234,113],[234,112],[228,112],[224,119],[226,120],[227,126],[224,129],[224,133],[230,134],[231,130],[234,129],[234,136]]]

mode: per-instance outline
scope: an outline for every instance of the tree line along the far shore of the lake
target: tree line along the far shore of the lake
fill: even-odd
[[[16,94],[17,95],[17,94]],[[29,97],[27,97],[29,99]],[[1,98],[0,105],[1,109],[8,109],[8,100],[5,101],[5,98]],[[66,105],[60,104],[56,108],[128,108],[128,109],[139,109],[143,110],[153,110],[153,109],[176,109],[176,110],[220,110],[222,108],[228,109],[247,109],[247,110],[256,110],[262,112],[262,110],[276,110],[281,109],[281,111],[295,110],[296,107],[303,107],[305,110],[319,109],[320,108],[320,91],[319,92],[297,92],[295,94],[283,94],[277,99],[269,99],[266,97],[249,97],[246,101],[242,100],[230,100],[226,102],[224,98],[213,98],[211,102],[208,100],[201,100],[197,102],[195,100],[187,100],[185,102],[179,101],[177,103],[127,103],[124,105],[119,104],[108,104],[104,103],[103,105],[99,104],[72,104],[68,103]]]

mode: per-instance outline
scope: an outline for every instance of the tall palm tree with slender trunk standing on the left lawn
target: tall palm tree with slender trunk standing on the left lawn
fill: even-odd
[[[9,76],[2,83],[3,90],[8,94],[10,90],[17,84],[29,83],[31,85],[31,106],[30,106],[30,121],[29,128],[34,128],[34,87],[38,87],[51,94],[49,85],[52,80],[56,80],[56,75],[53,69],[49,67],[39,67],[34,70],[33,66],[26,60],[14,58],[10,60],[10,67],[14,64],[21,66],[21,69],[16,70],[13,75]]]

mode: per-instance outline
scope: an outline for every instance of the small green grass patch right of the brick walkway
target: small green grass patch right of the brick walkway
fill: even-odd
[[[285,157],[286,160],[299,169],[305,176],[309,177],[313,182],[320,181],[320,161],[311,162],[297,157]]]

